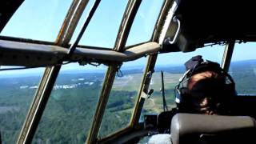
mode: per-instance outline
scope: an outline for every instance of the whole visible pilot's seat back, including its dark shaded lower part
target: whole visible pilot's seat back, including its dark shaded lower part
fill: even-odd
[[[256,121],[249,116],[175,114],[170,134],[173,144],[256,143]]]

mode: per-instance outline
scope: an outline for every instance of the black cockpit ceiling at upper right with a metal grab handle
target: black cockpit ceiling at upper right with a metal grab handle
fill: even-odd
[[[254,3],[248,0],[174,0],[166,17],[169,25],[161,52],[189,52],[227,42],[256,42],[254,14]]]

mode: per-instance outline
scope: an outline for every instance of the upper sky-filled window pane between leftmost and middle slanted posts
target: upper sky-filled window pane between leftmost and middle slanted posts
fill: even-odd
[[[100,2],[93,18],[90,20],[79,45],[99,46],[113,48],[117,38],[118,29],[122,21],[122,15],[126,10],[126,0],[111,0]],[[86,13],[82,14],[82,27],[86,20]],[[79,28],[78,30],[80,30]],[[77,35],[78,33],[76,33]],[[76,38],[77,36],[74,36]],[[74,39],[73,39],[74,41]]]

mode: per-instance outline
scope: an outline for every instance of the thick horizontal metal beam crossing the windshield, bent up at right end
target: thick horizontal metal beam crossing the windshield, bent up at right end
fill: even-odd
[[[2,66],[56,66],[66,58],[68,49],[62,46],[15,42],[0,39],[0,65]],[[98,62],[110,65],[111,62],[128,62],[160,50],[157,42],[147,42],[131,47],[124,52],[114,50],[77,47],[68,62]]]

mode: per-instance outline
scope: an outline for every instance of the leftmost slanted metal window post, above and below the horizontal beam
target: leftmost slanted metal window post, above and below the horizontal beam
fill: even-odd
[[[55,41],[57,46],[68,45],[87,3],[88,0],[73,1],[62,24],[62,28],[59,31],[58,38]],[[76,17],[74,17],[74,15],[76,15]],[[38,86],[38,90],[34,95],[33,102],[31,103],[30,110],[26,116],[26,120],[23,123],[17,143],[32,142],[40,119],[42,118],[43,110],[46,107],[46,103],[50,97],[50,92],[53,89],[54,82],[56,81],[61,67],[61,65],[46,67],[41,82]]]

